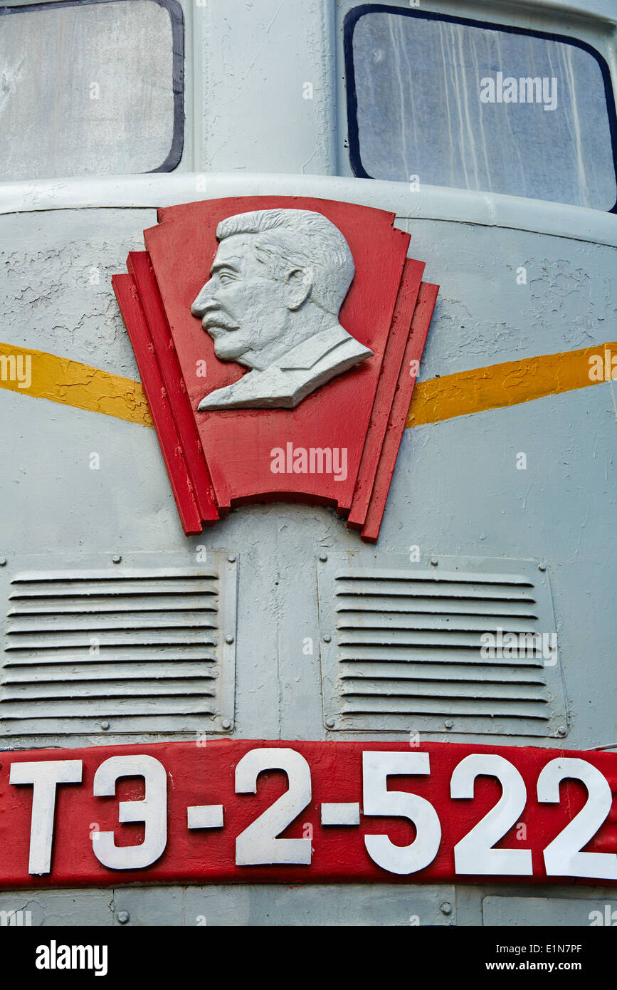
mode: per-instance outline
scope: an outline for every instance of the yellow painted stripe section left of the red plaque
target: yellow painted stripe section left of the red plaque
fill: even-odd
[[[21,384],[18,378],[22,378]],[[27,384],[29,387],[25,387]],[[105,413],[144,427],[153,425],[138,381],[57,354],[47,354],[44,350],[0,344],[0,387],[93,413]]]

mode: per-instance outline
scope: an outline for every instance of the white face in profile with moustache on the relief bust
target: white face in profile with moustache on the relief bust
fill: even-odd
[[[286,283],[274,279],[257,260],[255,235],[235,234],[221,241],[210,279],[191,307],[202,318],[221,360],[262,368],[260,352],[284,333],[290,319]]]

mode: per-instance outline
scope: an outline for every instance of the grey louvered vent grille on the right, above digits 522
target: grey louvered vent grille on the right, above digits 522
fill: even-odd
[[[379,562],[335,553],[317,565],[328,728],[563,736],[555,621],[537,564],[468,560],[459,571],[444,558],[437,573]]]

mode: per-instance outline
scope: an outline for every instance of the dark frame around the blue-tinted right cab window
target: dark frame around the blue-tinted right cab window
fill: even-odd
[[[602,81],[604,83],[604,96],[606,99],[606,111],[608,115],[608,126],[611,137],[611,148],[613,152],[613,167],[615,169],[615,182],[617,184],[617,112],[615,109],[615,97],[611,81],[608,63],[599,51],[592,48],[586,42],[578,39],[568,38],[566,35],[553,35],[546,31],[533,31],[531,28],[515,28],[506,24],[495,24],[490,21],[474,21],[467,17],[455,17],[451,14],[435,14],[429,11],[406,10],[403,7],[394,7],[390,4],[367,3],[359,7],[353,7],[345,16],[343,22],[343,51],[345,56],[345,83],[347,90],[347,133],[349,138],[349,162],[356,178],[372,179],[362,164],[360,153],[360,135],[358,131],[358,96],[356,93],[356,76],[353,61],[353,35],[360,18],[366,14],[398,14],[403,17],[421,18],[424,21],[445,21],[449,24],[463,24],[470,28],[483,28],[485,31],[501,31],[509,35],[526,35],[532,38],[542,38],[551,42],[562,42],[564,45],[573,45],[575,48],[583,49],[592,55],[597,61]],[[448,187],[453,188],[453,187]],[[569,205],[569,204],[564,204]],[[573,205],[573,204],[570,204]],[[583,207],[582,209],[593,209],[593,207]],[[603,210],[599,211],[603,213]],[[617,202],[607,213],[617,213]]]

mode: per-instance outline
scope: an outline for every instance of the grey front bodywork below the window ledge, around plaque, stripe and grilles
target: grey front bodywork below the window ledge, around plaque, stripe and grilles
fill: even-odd
[[[238,192],[245,189],[240,184]],[[298,191],[306,190],[300,184]],[[337,193],[332,186],[331,194]],[[127,247],[139,246],[153,215],[96,210],[66,211],[64,217],[70,248],[62,247],[64,225],[55,211],[2,220],[10,233],[6,260],[19,262],[4,266],[11,343],[135,375],[107,279]],[[496,247],[487,258],[482,227],[443,221],[409,227],[411,250],[428,257],[426,276],[443,285],[420,379],[600,344],[609,336],[614,249],[501,227],[491,234]],[[49,247],[38,250],[42,234]],[[71,264],[71,251],[84,261]],[[95,259],[100,282],[91,286]],[[516,284],[519,260],[534,272],[527,286]],[[487,278],[481,265],[489,266]],[[567,309],[559,288],[564,284]],[[20,298],[31,306],[20,306]],[[599,704],[612,678],[602,589],[614,585],[613,558],[604,552],[615,511],[613,387],[606,382],[405,431],[380,537],[385,551],[418,545],[426,565],[434,553],[477,556],[479,549],[486,556],[548,561],[574,747],[610,743],[615,736],[612,712]],[[18,425],[5,442],[7,485],[18,497],[4,522],[2,552],[82,546],[109,553],[176,551],[193,562],[199,545],[236,550],[242,556],[239,731],[318,738],[318,654],[316,648],[312,656],[303,653],[305,638],[318,642],[313,559],[322,547],[358,550],[358,538],[326,509],[255,506],[235,510],[203,537],[187,540],[151,431],[15,393],[5,392],[2,402],[8,422]],[[89,467],[93,451],[101,456],[99,471]],[[527,453],[525,471],[516,469],[520,451]],[[250,656],[240,656],[243,643],[250,644]],[[586,669],[590,649],[592,678]]]

